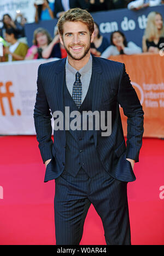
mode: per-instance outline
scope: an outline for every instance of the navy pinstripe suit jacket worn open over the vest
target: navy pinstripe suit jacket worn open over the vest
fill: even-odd
[[[56,179],[65,168],[66,132],[54,130],[51,140],[51,113],[64,111],[63,85],[66,59],[41,64],[38,68],[37,97],[34,106],[34,124],[43,163],[51,159],[45,171],[44,182]],[[102,137],[93,131],[95,147],[104,169],[121,181],[136,179],[131,163],[126,158],[139,161],[143,136],[143,109],[131,85],[125,65],[92,57],[92,111],[112,111],[112,133]],[[119,112],[119,104],[127,116],[127,142]],[[63,112],[64,113],[64,112]]]

